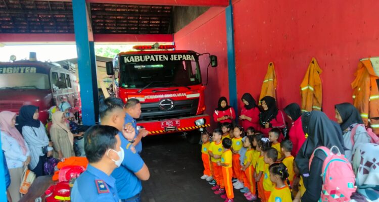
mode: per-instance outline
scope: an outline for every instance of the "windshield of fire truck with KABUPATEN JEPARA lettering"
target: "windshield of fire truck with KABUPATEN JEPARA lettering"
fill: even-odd
[[[151,57],[155,58],[149,59]],[[197,84],[201,84],[201,73],[197,57],[193,54],[151,55],[148,58],[146,55],[123,56],[120,60],[119,85],[124,88]]]

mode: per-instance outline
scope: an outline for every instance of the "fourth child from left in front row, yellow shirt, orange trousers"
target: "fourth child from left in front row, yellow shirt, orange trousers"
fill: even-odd
[[[242,137],[244,136],[244,130],[241,126],[235,126],[233,129],[233,135],[234,138],[232,139],[233,144],[231,145],[231,150],[233,152],[233,172],[235,174],[235,177],[238,179],[236,182],[233,183],[233,186],[235,189],[242,189],[244,188],[244,177],[245,173],[241,171],[241,164],[240,164],[240,154],[239,151],[242,148]]]

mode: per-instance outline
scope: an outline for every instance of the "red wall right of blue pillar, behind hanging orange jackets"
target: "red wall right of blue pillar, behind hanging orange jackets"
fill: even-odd
[[[259,98],[272,61],[279,108],[301,104],[299,86],[315,57],[323,70],[323,111],[334,118],[335,104],[352,102],[359,59],[379,56],[377,0],[241,0],[233,6],[239,99],[244,92]]]

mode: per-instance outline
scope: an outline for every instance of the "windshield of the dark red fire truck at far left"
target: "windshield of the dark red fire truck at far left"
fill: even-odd
[[[49,75],[41,73],[0,74],[0,89],[50,89]]]

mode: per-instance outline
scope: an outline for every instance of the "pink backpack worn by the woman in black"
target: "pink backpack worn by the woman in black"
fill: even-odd
[[[332,150],[336,148],[337,154],[334,154]],[[326,201],[350,201],[350,196],[355,192],[355,175],[349,160],[341,154],[340,149],[337,146],[332,146],[328,149],[325,146],[319,146],[314,149],[313,154],[309,161],[309,169],[317,150],[322,150],[325,153],[326,158],[322,165],[322,189],[320,202]]]

